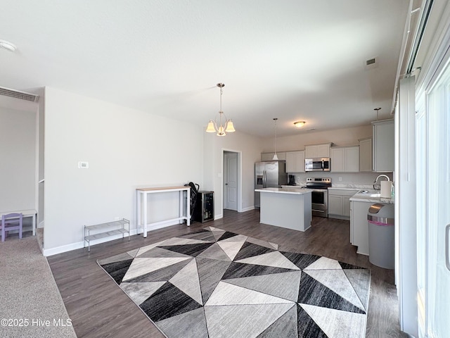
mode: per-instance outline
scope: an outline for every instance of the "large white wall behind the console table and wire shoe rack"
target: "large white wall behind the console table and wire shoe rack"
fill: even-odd
[[[44,253],[81,246],[84,225],[117,216],[135,229],[138,187],[203,184],[201,128],[53,87],[45,93]],[[176,196],[150,208],[150,220],[176,212]]]

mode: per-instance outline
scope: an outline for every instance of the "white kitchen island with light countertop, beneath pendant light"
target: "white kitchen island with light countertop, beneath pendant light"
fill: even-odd
[[[259,223],[305,231],[311,227],[311,189],[283,187],[259,192]]]

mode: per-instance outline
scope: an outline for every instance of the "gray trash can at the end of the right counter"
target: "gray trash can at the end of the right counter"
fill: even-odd
[[[395,266],[394,204],[373,204],[368,208],[368,260],[380,268]]]

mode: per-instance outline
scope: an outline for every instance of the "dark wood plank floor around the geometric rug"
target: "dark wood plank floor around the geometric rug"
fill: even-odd
[[[306,232],[287,230],[259,223],[259,211],[225,211],[224,218],[209,223],[173,225],[127,239],[60,253],[48,258],[79,338],[82,337],[164,337],[150,320],[97,265],[97,259],[159,242],[202,227],[219,227],[231,232],[280,244],[283,251],[312,253],[370,268],[371,294],[366,337],[407,337],[399,330],[397,291],[393,270],[372,265],[368,256],[356,253],[349,244],[349,222],[314,218]]]

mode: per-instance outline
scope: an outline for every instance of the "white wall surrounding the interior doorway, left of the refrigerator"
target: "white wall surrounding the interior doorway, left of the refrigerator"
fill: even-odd
[[[261,139],[241,132],[217,137],[216,134],[204,132],[205,186],[202,190],[214,191],[214,218],[223,216],[223,152],[236,151],[241,154],[241,192],[242,199],[238,209],[247,211],[255,207],[255,162],[260,161],[262,152]]]

